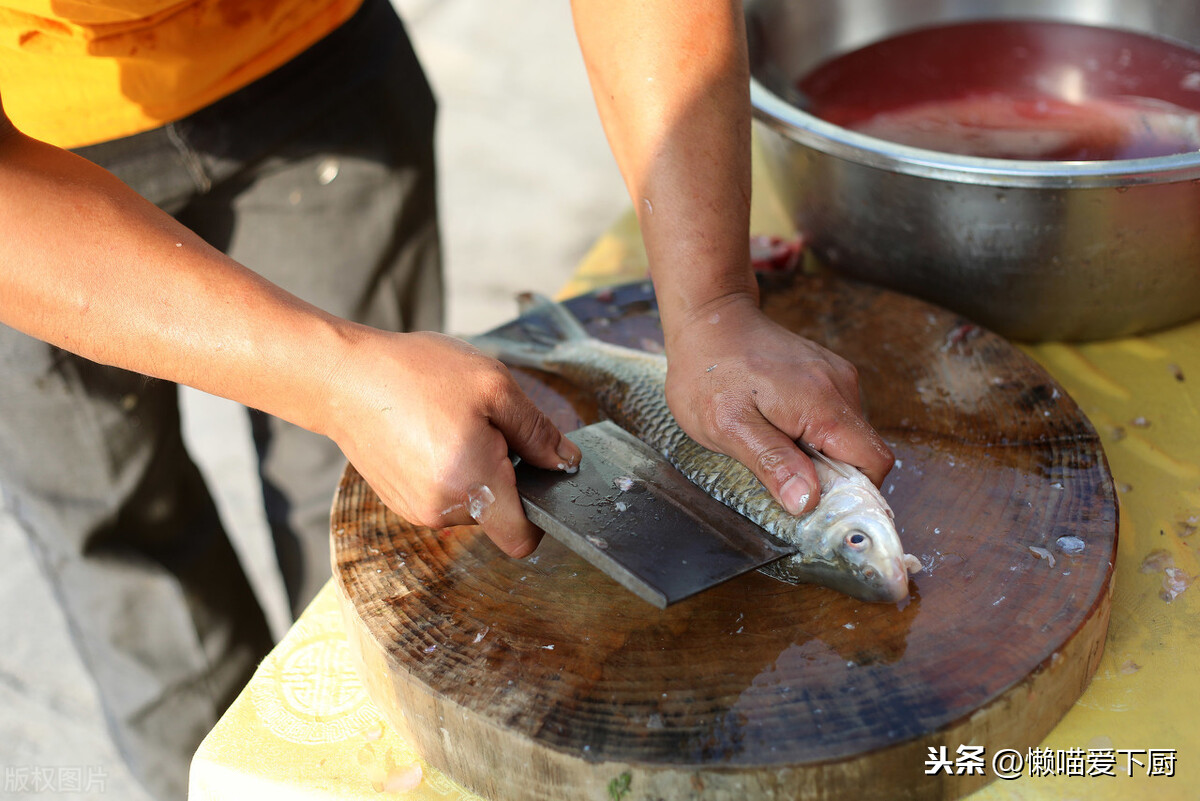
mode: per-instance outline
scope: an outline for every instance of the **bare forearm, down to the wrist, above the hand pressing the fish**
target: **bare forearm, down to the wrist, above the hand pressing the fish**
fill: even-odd
[[[742,4],[574,0],[574,10],[670,344],[727,299],[757,299]]]

